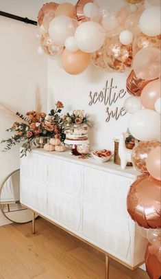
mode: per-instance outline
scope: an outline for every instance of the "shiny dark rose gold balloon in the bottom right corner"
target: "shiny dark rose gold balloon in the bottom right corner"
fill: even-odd
[[[150,279],[160,279],[161,276],[161,247],[147,245],[145,265]]]

